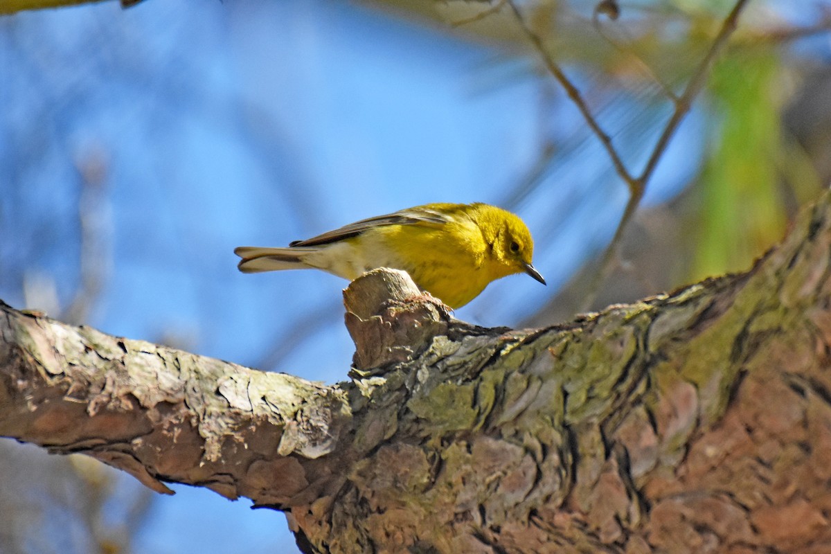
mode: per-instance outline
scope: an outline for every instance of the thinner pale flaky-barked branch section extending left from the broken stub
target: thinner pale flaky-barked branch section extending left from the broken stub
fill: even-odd
[[[189,483],[278,504],[327,480],[289,455],[336,448],[349,415],[337,388],[0,311],[0,434],[90,454],[161,493]]]

